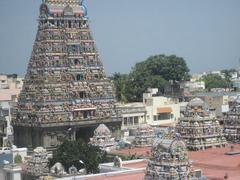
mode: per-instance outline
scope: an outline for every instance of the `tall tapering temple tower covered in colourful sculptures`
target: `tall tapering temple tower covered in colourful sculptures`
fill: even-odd
[[[22,92],[15,109],[14,143],[56,148],[64,138],[89,138],[99,124],[120,128],[80,0],[43,0]]]

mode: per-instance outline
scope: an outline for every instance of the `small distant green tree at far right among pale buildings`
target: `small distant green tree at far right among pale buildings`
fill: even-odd
[[[227,88],[228,82],[217,74],[208,74],[203,76],[202,80],[205,82],[206,89],[212,88]]]

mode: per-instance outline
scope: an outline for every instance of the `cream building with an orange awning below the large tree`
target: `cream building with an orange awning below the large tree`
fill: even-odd
[[[180,117],[178,98],[159,96],[157,89],[150,89],[143,94],[143,104],[146,107],[146,122],[152,126],[167,126],[174,124]]]

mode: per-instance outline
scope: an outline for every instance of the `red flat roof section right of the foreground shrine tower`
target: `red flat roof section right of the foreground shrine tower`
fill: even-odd
[[[240,144],[227,145],[225,148],[212,148],[205,151],[189,152],[194,168],[201,169],[208,179],[223,179],[227,174],[228,180],[240,179],[240,154],[225,155],[234,147],[234,152],[240,152]]]

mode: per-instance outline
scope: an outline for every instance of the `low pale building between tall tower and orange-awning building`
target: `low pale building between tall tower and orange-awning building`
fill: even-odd
[[[146,123],[146,109],[143,103],[117,104],[117,110],[122,118],[121,130],[124,136],[128,136],[131,130],[136,130],[138,126]]]

